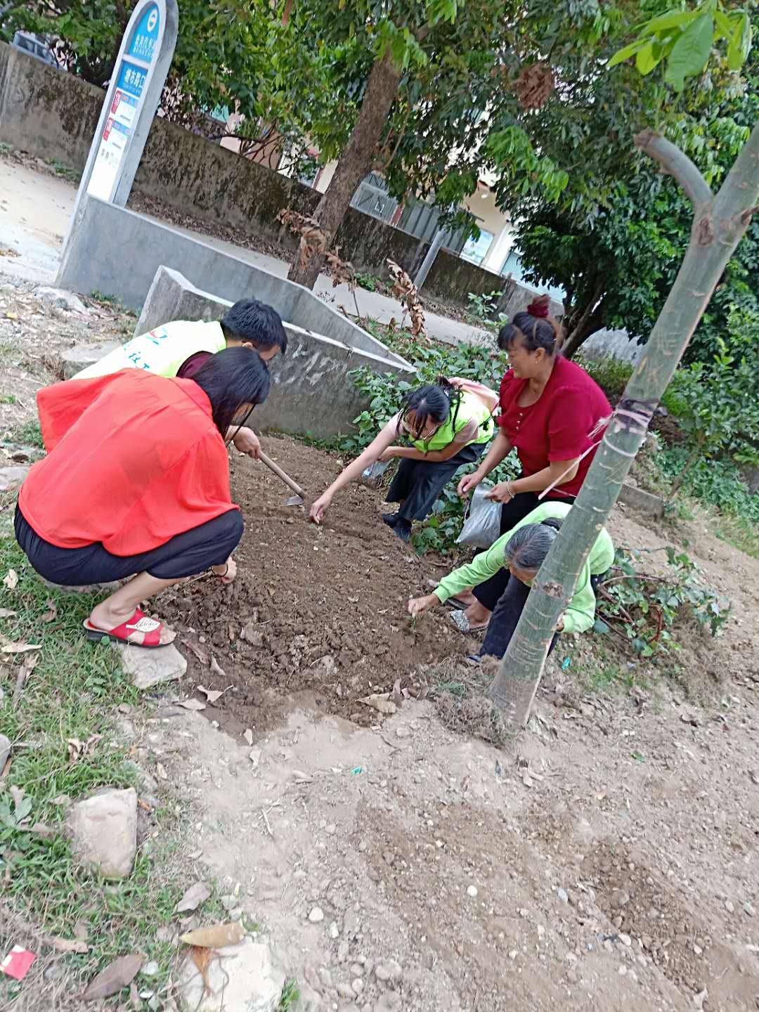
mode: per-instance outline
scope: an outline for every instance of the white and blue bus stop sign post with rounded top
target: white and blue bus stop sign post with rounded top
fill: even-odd
[[[178,23],[176,0],[138,0],[79,184],[67,245],[87,197],[126,203],[174,56]]]

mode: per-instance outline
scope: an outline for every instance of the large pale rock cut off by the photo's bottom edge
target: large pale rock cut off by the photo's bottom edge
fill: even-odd
[[[284,972],[268,945],[246,938],[218,949],[203,979],[191,958],[179,973],[183,1012],[274,1012],[279,1005]]]

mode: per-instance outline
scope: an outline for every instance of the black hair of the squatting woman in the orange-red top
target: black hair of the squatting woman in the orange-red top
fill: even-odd
[[[244,404],[262,404],[269,393],[266,362],[247,348],[218,351],[192,378],[207,395],[214,411],[214,424],[225,441],[240,408]],[[240,425],[246,421],[247,415]]]

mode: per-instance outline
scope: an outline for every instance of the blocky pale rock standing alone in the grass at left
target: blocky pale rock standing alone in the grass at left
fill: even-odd
[[[123,878],[137,852],[137,792],[106,788],[77,802],[69,815],[72,851],[104,878]]]

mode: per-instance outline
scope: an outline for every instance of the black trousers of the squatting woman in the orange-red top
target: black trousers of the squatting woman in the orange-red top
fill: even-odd
[[[243,528],[240,510],[231,509],[150,552],[113,556],[99,541],[82,549],[59,549],[29,526],[18,506],[15,515],[16,540],[32,567],[51,583],[69,587],[110,583],[145,572],[158,580],[194,576],[210,566],[224,565],[243,536]]]

